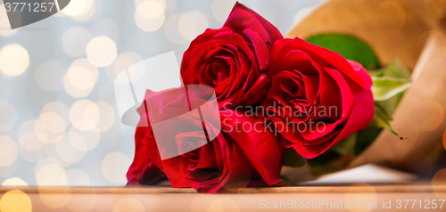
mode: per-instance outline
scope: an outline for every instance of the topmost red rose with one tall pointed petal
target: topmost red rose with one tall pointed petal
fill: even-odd
[[[283,36],[267,20],[236,3],[221,29],[207,29],[183,55],[185,85],[215,89],[220,108],[263,101],[269,78],[270,45]]]

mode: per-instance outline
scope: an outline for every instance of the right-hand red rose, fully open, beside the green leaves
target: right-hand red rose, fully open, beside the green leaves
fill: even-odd
[[[372,80],[359,63],[296,37],[278,40],[261,121],[272,120],[282,144],[311,159],[368,126]]]

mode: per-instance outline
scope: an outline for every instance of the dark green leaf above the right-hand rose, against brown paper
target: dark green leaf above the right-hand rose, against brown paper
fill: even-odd
[[[320,34],[306,39],[313,45],[340,53],[344,58],[359,62],[365,69],[378,69],[379,61],[373,49],[357,37],[343,34]]]

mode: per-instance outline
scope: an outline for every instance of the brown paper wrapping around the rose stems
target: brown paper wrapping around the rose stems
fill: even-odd
[[[332,0],[286,37],[345,33],[365,40],[382,64],[398,57],[413,86],[393,113],[401,140],[383,130],[350,167],[376,163],[420,173],[444,154],[446,129],[446,0]]]

